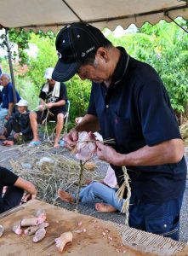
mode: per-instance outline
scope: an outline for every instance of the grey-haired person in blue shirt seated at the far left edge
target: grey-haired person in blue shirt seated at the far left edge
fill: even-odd
[[[3,85],[2,90],[2,104],[0,107],[0,121],[3,119],[9,119],[11,114],[14,112],[14,95],[13,95],[13,84],[10,82],[9,74],[2,73],[1,85]],[[20,101],[20,95],[16,90],[17,102]]]

